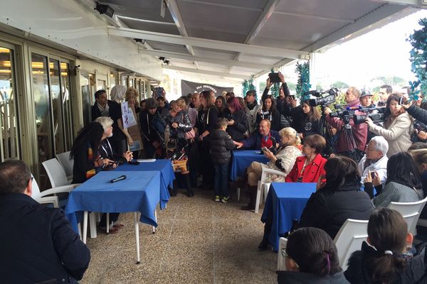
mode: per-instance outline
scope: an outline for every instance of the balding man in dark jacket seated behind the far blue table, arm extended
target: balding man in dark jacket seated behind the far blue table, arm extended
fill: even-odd
[[[271,122],[268,119],[260,121],[258,133],[253,133],[249,138],[241,142],[235,142],[237,148],[246,148],[250,150],[261,150],[261,148],[277,148],[276,143],[280,142],[278,131],[270,130]]]

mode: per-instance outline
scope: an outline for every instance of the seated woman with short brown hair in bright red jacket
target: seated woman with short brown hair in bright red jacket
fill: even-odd
[[[325,175],[323,166],[326,163],[326,159],[320,155],[325,146],[326,140],[319,134],[305,137],[304,146],[302,146],[304,155],[297,158],[285,181],[317,182],[321,175]]]

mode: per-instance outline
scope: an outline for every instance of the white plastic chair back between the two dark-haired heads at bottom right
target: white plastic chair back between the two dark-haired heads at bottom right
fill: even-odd
[[[362,248],[363,241],[368,237],[368,220],[347,219],[335,236],[339,266],[347,270],[347,261],[354,251]]]

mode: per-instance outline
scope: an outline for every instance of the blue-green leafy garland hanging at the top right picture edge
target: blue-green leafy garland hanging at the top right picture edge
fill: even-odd
[[[418,99],[421,89],[421,94],[427,94],[427,18],[421,18],[418,22],[421,30],[413,31],[409,35],[408,42],[412,45],[411,55],[411,70],[418,78],[414,82],[409,82],[411,85],[411,99]],[[418,89],[419,87],[419,89]]]

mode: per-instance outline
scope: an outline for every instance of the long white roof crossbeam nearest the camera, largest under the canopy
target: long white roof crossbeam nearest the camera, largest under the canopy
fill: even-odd
[[[289,50],[281,48],[269,48],[260,45],[248,45],[244,43],[230,43],[221,40],[209,40],[206,38],[185,37],[182,35],[171,35],[168,33],[155,33],[152,31],[139,31],[132,28],[116,28],[108,26],[108,34],[122,36],[125,38],[142,38],[144,40],[154,40],[161,43],[172,43],[177,45],[193,45],[201,48],[211,48],[216,50],[229,50],[240,53],[251,53],[254,55],[277,56],[280,58],[300,58],[300,55],[307,55],[307,51]]]

